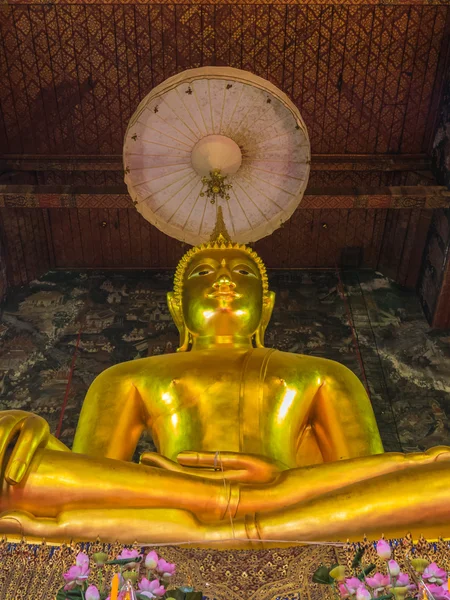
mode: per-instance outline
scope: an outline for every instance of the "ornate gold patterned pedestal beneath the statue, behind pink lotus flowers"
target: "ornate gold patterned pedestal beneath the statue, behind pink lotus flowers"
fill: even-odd
[[[385,570],[373,542],[364,540],[364,562]],[[155,547],[158,555],[176,563],[173,587],[190,585],[203,592],[207,600],[332,600],[331,588],[312,583],[312,575],[321,564],[339,562],[347,566],[358,544],[308,545],[266,550],[201,550],[183,546]],[[450,570],[450,542],[436,543],[410,538],[393,540],[393,558],[402,571],[408,571],[408,559],[420,556]],[[92,556],[105,551],[117,556],[122,544],[85,543],[70,546],[31,545],[26,542],[0,544],[0,600],[54,600],[63,584],[62,574],[75,563],[80,550]],[[146,549],[148,550],[148,548]],[[107,579],[117,567],[108,566]],[[91,583],[98,584],[99,571],[91,565]]]

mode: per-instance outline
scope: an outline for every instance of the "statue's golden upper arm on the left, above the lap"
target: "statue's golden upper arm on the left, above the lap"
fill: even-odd
[[[131,460],[147,420],[137,379],[123,363],[94,380],[83,402],[74,452]]]

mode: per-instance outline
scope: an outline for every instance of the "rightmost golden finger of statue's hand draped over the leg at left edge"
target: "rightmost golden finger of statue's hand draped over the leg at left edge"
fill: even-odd
[[[37,415],[27,416],[21,423],[20,434],[6,467],[5,479],[11,485],[20,483],[39,446],[50,435],[47,421]]]

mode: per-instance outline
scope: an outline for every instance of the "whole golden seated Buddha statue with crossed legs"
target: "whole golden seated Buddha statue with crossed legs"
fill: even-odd
[[[0,532],[53,541],[261,541],[450,535],[450,449],[383,453],[343,365],[265,348],[274,294],[220,235],[180,261],[179,352],[90,387],[72,451],[44,419],[0,413]],[[129,462],[144,429],[158,453]]]

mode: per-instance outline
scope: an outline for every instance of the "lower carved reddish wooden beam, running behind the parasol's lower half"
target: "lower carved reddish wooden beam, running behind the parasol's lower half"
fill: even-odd
[[[125,185],[31,186],[0,185],[0,207],[133,208]],[[445,186],[310,187],[299,209],[448,208]]]

